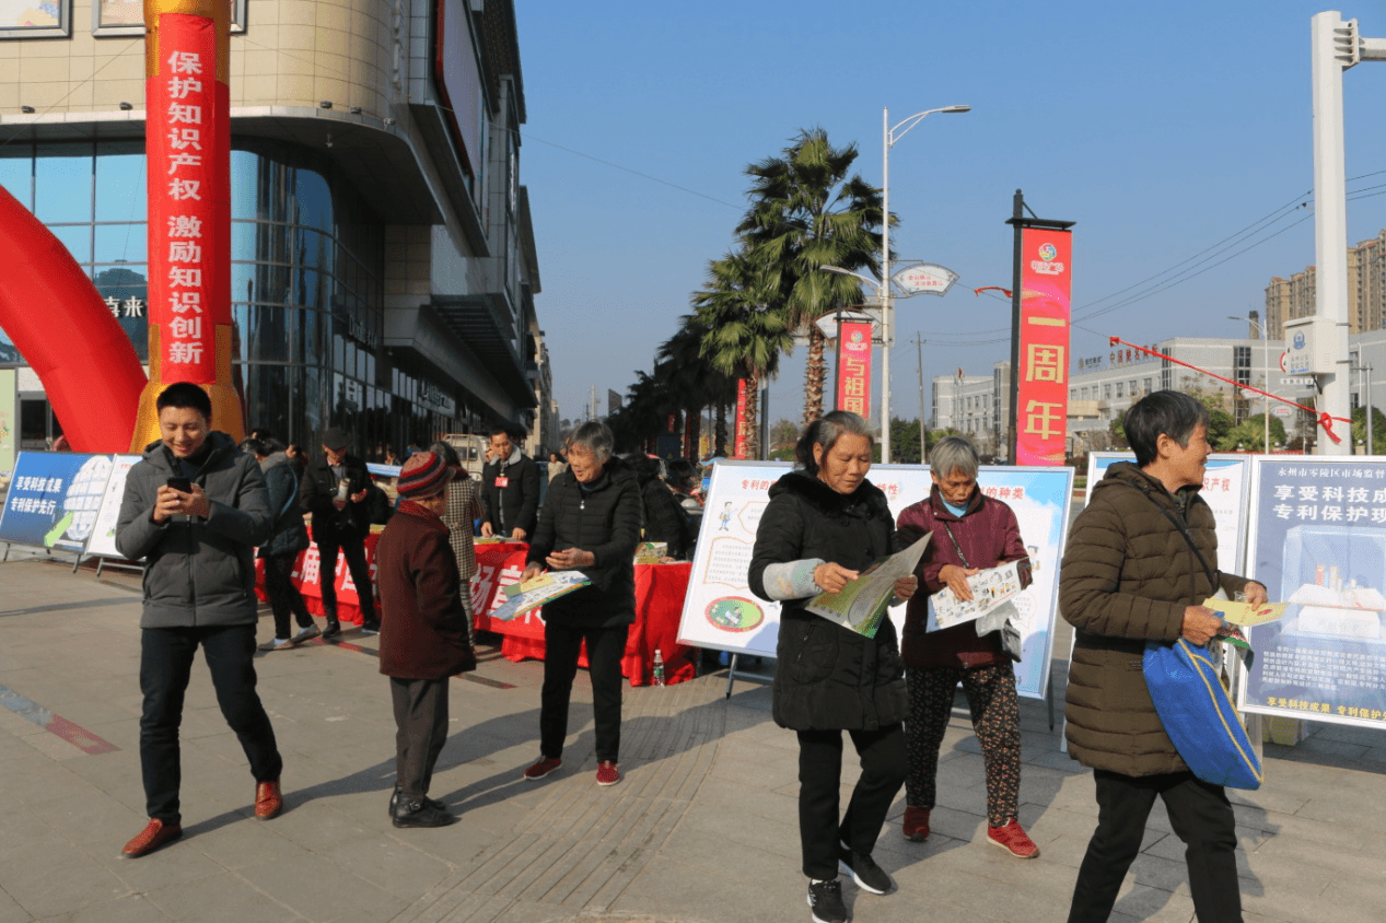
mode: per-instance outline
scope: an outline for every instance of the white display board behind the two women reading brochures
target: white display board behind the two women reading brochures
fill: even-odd
[[[679,643],[737,654],[773,657],[779,604],[757,599],[747,585],[755,528],[769,503],[769,488],[790,466],[783,461],[719,460],[708,482],[693,574],[679,622]],[[875,466],[868,475],[890,503],[894,517],[929,496],[929,468]],[[1042,698],[1049,682],[1053,618],[1058,611],[1059,561],[1067,538],[1073,468],[983,467],[983,492],[1016,511],[1020,535],[1034,563],[1034,582],[1015,597],[1021,636],[1016,689]],[[905,607],[890,610],[897,631]]]

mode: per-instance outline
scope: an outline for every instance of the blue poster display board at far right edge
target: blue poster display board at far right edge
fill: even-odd
[[[1247,577],[1285,615],[1247,631],[1242,708],[1386,729],[1386,459],[1257,457]]]

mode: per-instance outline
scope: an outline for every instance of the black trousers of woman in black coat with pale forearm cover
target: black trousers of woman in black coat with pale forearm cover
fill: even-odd
[[[862,775],[837,819],[843,777],[843,732],[798,732],[798,840],[804,874],[821,881],[837,877],[837,843],[870,855],[890,804],[905,784],[905,730],[848,730]]]

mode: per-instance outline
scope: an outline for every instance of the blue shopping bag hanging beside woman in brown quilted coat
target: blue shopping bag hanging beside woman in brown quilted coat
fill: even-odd
[[[1203,782],[1260,789],[1261,761],[1209,649],[1185,639],[1145,647],[1145,685],[1174,748]]]

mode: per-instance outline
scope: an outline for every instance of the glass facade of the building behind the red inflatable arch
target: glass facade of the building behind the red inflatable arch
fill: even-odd
[[[10,143],[0,147],[0,186],[62,241],[147,360],[143,151],[143,141]],[[316,448],[323,430],[340,425],[376,456],[491,423],[456,383],[383,345],[383,237],[326,158],[281,141],[237,143],[233,370],[247,428]],[[0,331],[0,364],[8,363],[24,359]],[[35,398],[21,420],[26,448],[61,431]]]

